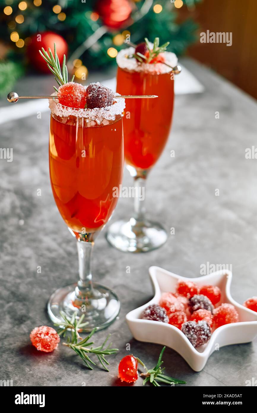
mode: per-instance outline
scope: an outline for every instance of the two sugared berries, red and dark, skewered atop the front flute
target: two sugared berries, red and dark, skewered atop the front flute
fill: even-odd
[[[114,93],[99,82],[85,88],[80,83],[68,82],[58,89],[59,103],[75,109],[96,109],[111,106]]]

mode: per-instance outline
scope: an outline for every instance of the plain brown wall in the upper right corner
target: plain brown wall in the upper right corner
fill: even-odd
[[[186,7],[181,15],[187,14]],[[257,99],[257,0],[203,0],[189,13],[200,25],[188,55]],[[232,45],[200,43],[200,32],[232,32]]]

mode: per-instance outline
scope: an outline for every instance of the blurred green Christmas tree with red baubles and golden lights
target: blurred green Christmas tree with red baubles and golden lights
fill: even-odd
[[[195,40],[197,25],[190,18],[178,22],[179,9],[186,6],[190,10],[200,1],[0,0],[0,57],[5,59],[5,63],[0,62],[0,77],[10,70],[8,59],[16,63],[16,76],[17,65],[21,69],[29,62],[30,68],[34,64],[40,69],[43,64],[38,56],[32,56],[34,50],[42,45],[53,47],[54,41],[57,51],[60,43],[60,53],[68,44],[68,68],[78,78],[80,66],[85,72],[114,64],[128,36],[133,43],[158,36],[160,43],[169,40],[169,50],[181,55]],[[54,33],[64,42],[60,37],[58,42]]]

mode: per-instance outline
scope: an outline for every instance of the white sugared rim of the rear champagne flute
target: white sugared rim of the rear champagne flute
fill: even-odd
[[[120,50],[116,57],[116,62],[121,69],[127,69],[135,72],[147,72],[153,74],[169,73],[171,68],[163,63],[139,63],[134,57],[127,58],[127,55],[133,55],[134,47],[127,47],[127,49]],[[177,56],[172,52],[164,52],[165,62],[170,66],[177,66]]]

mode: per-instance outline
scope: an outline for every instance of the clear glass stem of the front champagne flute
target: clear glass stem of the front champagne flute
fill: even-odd
[[[87,299],[93,295],[91,258],[94,247],[93,241],[85,241],[81,237],[77,240],[79,281],[76,295],[80,299]]]

